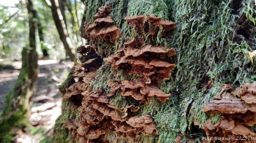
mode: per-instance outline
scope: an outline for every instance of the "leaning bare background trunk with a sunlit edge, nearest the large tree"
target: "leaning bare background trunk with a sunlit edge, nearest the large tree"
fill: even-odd
[[[52,10],[53,20],[55,22],[60,39],[63,42],[64,48],[70,60],[74,61],[75,54],[74,54],[74,50],[71,49],[73,47],[72,42],[68,36],[67,28],[66,28],[63,16],[61,15],[61,10],[59,8],[58,0],[51,0],[51,4],[52,4],[51,10]]]

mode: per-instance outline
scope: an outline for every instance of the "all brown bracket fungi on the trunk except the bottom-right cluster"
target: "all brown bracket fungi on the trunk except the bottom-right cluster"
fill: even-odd
[[[141,31],[148,32],[151,37],[156,37],[159,31],[165,34],[174,28],[175,23],[160,20],[161,17],[138,16],[125,18],[137,29],[137,36],[124,44],[124,48],[118,50],[118,54],[105,58],[104,61],[114,68],[127,71],[130,74],[143,76],[133,81],[110,81],[108,86],[112,92],[107,93],[103,89],[92,90],[89,87],[96,77],[96,71],[102,65],[102,58],[97,48],[91,41],[102,40],[115,43],[119,36],[119,28],[114,25],[109,6],[102,6],[94,15],[96,20],[87,25],[85,32],[89,37],[88,48],[78,48],[81,64],[77,64],[73,70],[73,76],[78,80],[67,88],[63,98],[82,97],[79,107],[79,117],[68,118],[62,123],[72,132],[74,139],[81,143],[108,143],[105,135],[114,132],[118,137],[136,137],[140,134],[157,135],[156,125],[150,115],[136,116],[139,107],[131,104],[118,108],[110,97],[117,92],[122,96],[131,96],[140,103],[145,103],[148,97],[155,96],[162,102],[169,99],[170,94],[164,93],[157,87],[157,81],[169,79],[170,72],[175,64],[166,62],[166,58],[176,54],[174,49],[165,50],[163,46],[144,45],[145,41]],[[87,23],[85,23],[87,24]],[[148,27],[144,28],[142,27]],[[138,39],[140,36],[140,39]],[[86,56],[85,56],[86,55]],[[150,57],[150,58],[149,58]]]

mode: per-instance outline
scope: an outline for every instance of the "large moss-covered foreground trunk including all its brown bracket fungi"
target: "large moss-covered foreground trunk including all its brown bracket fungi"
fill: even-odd
[[[67,99],[55,143],[255,137],[253,0],[84,0],[84,5],[81,35],[88,47],[78,48],[82,64],[60,87]],[[176,23],[174,29],[168,20]],[[94,56],[87,54],[92,51]],[[90,70],[88,63],[98,56],[105,62]],[[95,78],[88,76],[92,71]],[[132,112],[131,105],[139,109]],[[143,123],[152,123],[152,130]]]

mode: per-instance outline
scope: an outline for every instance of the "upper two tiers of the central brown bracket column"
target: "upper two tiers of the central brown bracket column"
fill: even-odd
[[[174,22],[160,19],[161,17],[152,15],[125,17],[125,20],[136,29],[137,35],[131,41],[125,42],[124,48],[117,50],[117,54],[105,58],[104,61],[116,69],[123,69],[130,74],[145,76],[148,79],[169,79],[175,64],[171,64],[165,59],[176,55],[175,49],[165,50],[164,46],[144,45],[147,34],[142,33],[148,32],[155,38],[154,32],[166,32],[175,28]]]

